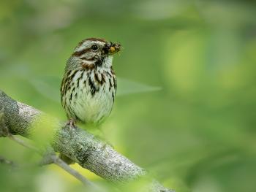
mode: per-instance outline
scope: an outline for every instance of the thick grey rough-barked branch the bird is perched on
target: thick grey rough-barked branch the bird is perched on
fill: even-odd
[[[0,110],[11,134],[29,137],[32,123],[42,122],[43,112],[11,99],[0,90]],[[38,120],[39,119],[39,120]],[[45,118],[43,118],[45,120]],[[62,126],[61,126],[62,125]],[[95,138],[81,128],[64,127],[58,123],[54,127],[53,142],[56,152],[63,153],[76,161],[80,166],[89,169],[100,177],[114,183],[127,183],[146,175],[146,171],[116,152],[110,145]],[[148,191],[171,191],[154,181]]]

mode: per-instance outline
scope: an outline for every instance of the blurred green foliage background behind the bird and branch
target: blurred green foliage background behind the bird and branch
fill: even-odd
[[[12,98],[65,120],[59,85],[74,47],[121,42],[102,125],[116,150],[177,192],[256,191],[254,1],[1,0],[0,27],[0,88]],[[83,191],[8,139],[0,155],[22,167],[0,164],[0,191]]]

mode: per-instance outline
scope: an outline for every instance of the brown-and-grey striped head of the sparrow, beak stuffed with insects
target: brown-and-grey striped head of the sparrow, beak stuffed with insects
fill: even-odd
[[[72,53],[72,56],[67,61],[66,71],[69,69],[83,68],[85,66],[87,69],[111,67],[112,55],[117,53],[120,49],[120,44],[107,42],[105,39],[84,39],[75,47],[74,53]]]

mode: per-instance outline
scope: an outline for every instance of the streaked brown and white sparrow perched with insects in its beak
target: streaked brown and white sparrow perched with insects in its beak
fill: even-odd
[[[100,123],[110,115],[116,96],[112,59],[120,49],[118,43],[97,38],[85,39],[75,47],[61,82],[61,104],[69,126],[77,121]]]

